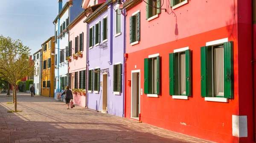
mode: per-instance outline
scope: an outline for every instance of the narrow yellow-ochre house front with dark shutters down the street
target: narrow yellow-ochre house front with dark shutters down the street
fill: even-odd
[[[54,97],[54,64],[55,64],[55,56],[52,55],[52,51],[54,51],[55,36],[50,37],[45,41],[41,46],[43,50],[42,54],[42,96]]]

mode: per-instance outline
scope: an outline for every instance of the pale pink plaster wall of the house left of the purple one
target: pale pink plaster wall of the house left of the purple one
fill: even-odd
[[[84,50],[82,52],[83,57],[78,57],[78,59],[73,59],[73,56],[71,55],[71,62],[69,62],[69,73],[74,73],[80,70],[86,70],[87,23],[83,22],[85,19],[86,17],[82,18],[72,28],[70,28],[69,41],[72,40],[72,48],[75,48],[75,37],[79,36],[79,34],[84,32]],[[72,54],[73,53],[75,53],[74,49],[72,49]],[[74,74],[72,74],[72,76],[74,76]],[[70,89],[74,88],[73,85],[73,81],[71,80]],[[74,95],[74,104],[78,104],[79,106],[85,107],[85,96]]]

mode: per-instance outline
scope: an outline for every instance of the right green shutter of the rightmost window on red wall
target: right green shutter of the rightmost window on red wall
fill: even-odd
[[[224,42],[224,97],[233,98],[233,41]]]

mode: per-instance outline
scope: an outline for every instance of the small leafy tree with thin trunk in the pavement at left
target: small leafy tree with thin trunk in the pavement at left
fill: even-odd
[[[0,77],[13,86],[13,100],[17,112],[16,83],[19,79],[30,76],[34,71],[34,63],[29,59],[29,47],[17,39],[0,35]]]

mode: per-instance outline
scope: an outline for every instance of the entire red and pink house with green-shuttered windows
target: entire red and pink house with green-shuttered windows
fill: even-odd
[[[125,117],[253,143],[252,1],[181,1],[124,4]]]

